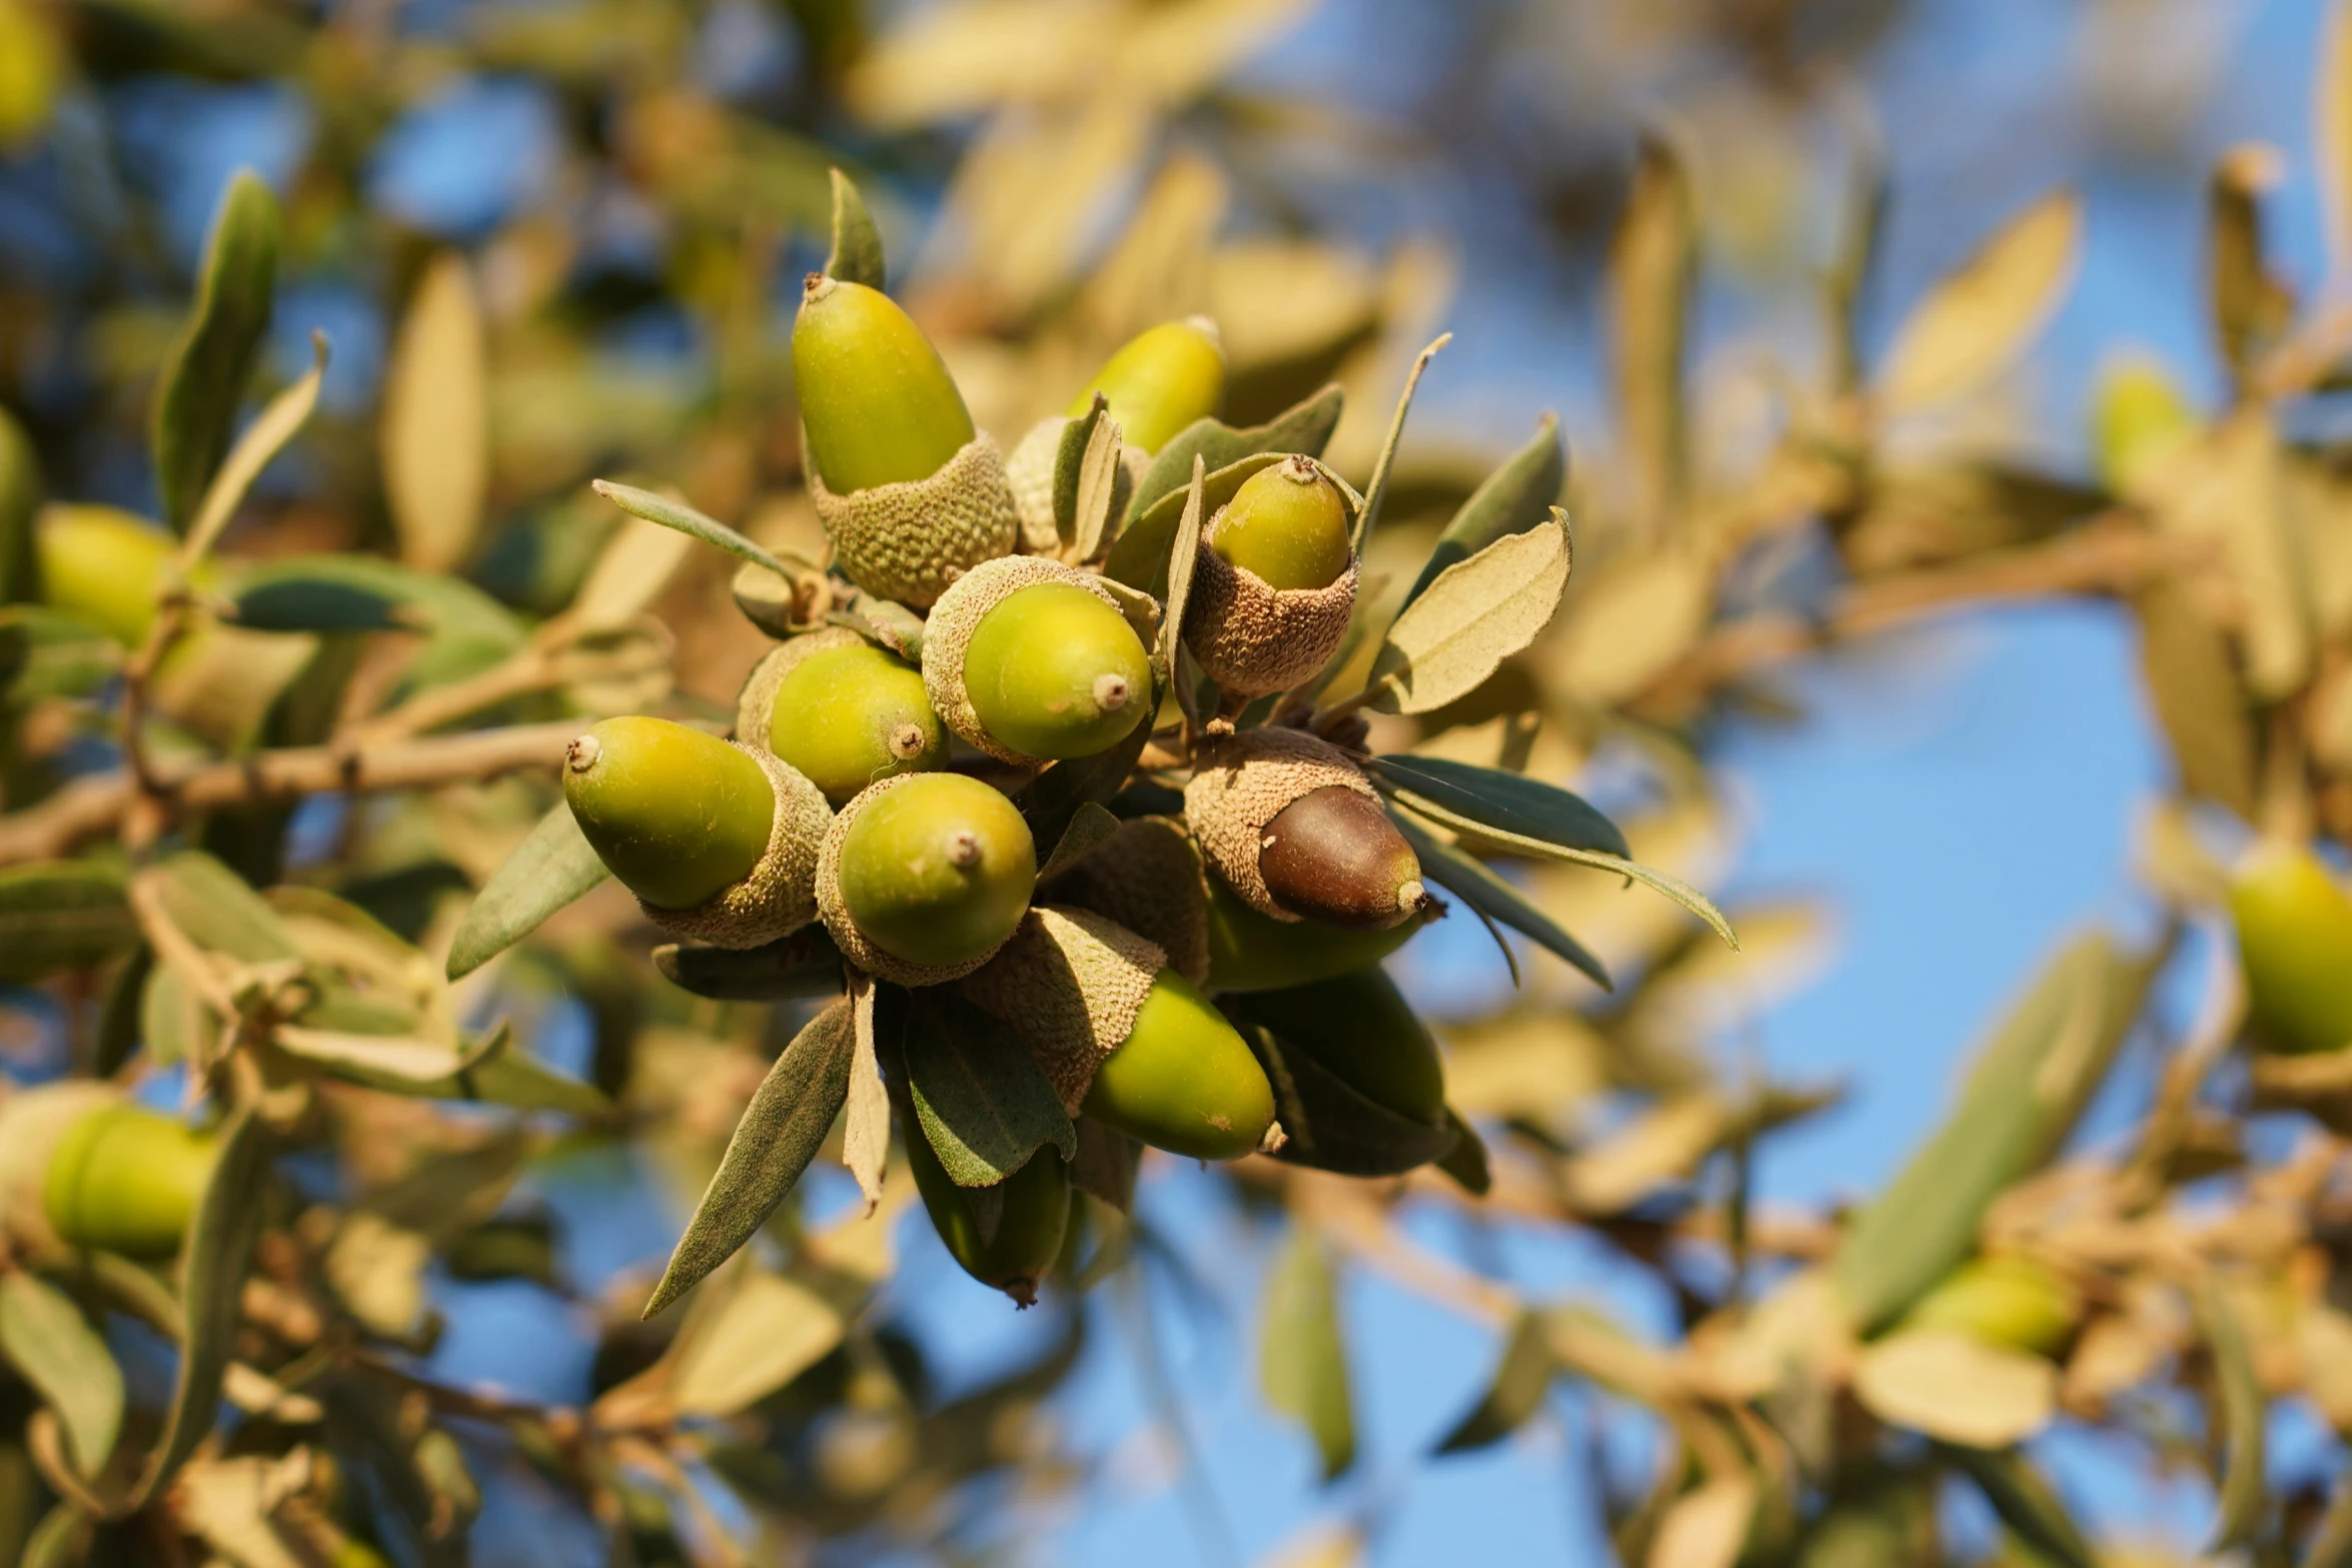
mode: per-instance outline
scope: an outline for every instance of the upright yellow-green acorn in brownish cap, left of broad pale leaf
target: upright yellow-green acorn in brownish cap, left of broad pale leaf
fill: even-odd
[[[1312,679],[1355,614],[1350,510],[1322,463],[1289,456],[1242,480],[1202,529],[1183,637],[1232,696]]]

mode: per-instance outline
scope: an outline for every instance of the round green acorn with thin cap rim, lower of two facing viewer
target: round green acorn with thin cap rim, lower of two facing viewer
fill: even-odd
[[[816,907],[842,957],[898,985],[941,985],[985,964],[1035,886],[1028,823],[964,773],[901,773],[863,790],[816,858]]]

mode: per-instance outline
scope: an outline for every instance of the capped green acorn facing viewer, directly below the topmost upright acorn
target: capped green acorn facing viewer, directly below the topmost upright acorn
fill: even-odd
[[[1094,574],[1007,555],[941,595],[922,684],[957,736],[1002,762],[1091,757],[1152,710],[1152,661]]]

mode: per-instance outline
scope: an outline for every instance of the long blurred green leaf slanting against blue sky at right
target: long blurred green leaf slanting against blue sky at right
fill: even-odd
[[[1952,1114],[1846,1225],[1832,1269],[1860,1333],[1896,1321],[1969,1258],[1992,1201],[2058,1152],[2147,980],[2145,961],[2093,933],[2058,952],[2009,1009]]]

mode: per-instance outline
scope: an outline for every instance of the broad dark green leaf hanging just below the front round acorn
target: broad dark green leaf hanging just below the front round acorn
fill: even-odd
[[[1077,1128],[1021,1039],[960,994],[908,992],[898,1041],[915,1119],[957,1187],[995,1187],[1047,1143],[1077,1157]]]

